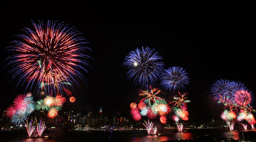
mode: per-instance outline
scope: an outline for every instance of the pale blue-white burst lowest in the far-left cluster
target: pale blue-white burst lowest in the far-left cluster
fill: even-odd
[[[17,109],[12,115],[11,123],[20,125],[24,123],[24,121],[27,119],[28,119],[28,114],[25,111],[25,109]]]

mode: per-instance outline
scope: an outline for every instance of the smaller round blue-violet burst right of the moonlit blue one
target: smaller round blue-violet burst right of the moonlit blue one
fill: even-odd
[[[186,70],[183,70],[183,68],[180,67],[166,69],[160,77],[160,85],[170,91],[172,89],[184,89],[185,85],[189,84],[189,77],[185,71]]]

